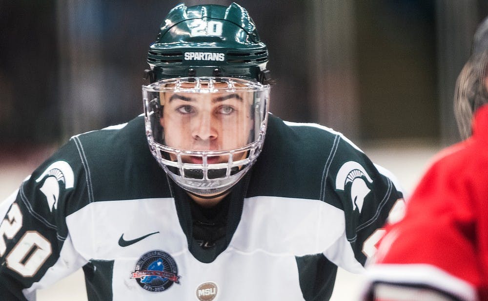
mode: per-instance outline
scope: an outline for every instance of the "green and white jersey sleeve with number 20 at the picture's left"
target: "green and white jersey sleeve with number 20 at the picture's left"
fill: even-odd
[[[88,193],[82,158],[70,141],[1,203],[2,300],[33,300],[42,283],[84,264],[70,243],[65,218],[88,203]]]

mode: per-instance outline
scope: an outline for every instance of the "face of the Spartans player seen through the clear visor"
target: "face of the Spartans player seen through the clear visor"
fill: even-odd
[[[252,127],[250,96],[245,92],[164,93],[160,123],[165,144],[189,151],[223,151],[245,146]],[[244,152],[236,154],[233,160],[244,156]],[[197,156],[183,156],[182,160],[202,163]],[[228,160],[228,156],[207,158],[210,164]]]

